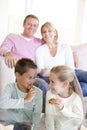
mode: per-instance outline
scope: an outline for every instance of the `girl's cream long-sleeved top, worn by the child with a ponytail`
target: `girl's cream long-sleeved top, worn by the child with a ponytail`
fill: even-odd
[[[58,108],[50,104],[51,98],[61,99],[64,108]],[[49,90],[46,96],[46,128],[47,130],[77,130],[83,120],[83,105],[81,98],[73,92],[68,98],[61,98],[59,95],[52,94]]]

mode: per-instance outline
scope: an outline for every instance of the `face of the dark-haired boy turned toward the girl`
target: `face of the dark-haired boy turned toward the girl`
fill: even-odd
[[[20,75],[18,72],[16,72],[16,79],[19,89],[23,92],[29,91],[29,86],[34,83],[36,75],[37,69],[29,69],[23,75]]]

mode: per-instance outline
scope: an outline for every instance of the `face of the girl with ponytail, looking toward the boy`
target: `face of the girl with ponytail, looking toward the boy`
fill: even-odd
[[[54,73],[50,73],[50,88],[51,92],[58,95],[63,95],[65,93],[65,81],[60,81]]]

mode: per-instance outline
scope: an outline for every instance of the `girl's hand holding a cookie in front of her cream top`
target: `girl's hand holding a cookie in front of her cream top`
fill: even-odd
[[[60,99],[51,98],[49,103],[54,104],[59,110],[62,110],[64,107],[64,104]]]

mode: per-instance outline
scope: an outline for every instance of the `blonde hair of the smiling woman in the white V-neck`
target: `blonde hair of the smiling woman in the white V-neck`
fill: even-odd
[[[55,38],[54,38],[54,42],[57,43],[57,40],[58,40],[58,31],[57,29],[55,28],[55,26],[51,23],[51,22],[46,22],[44,23],[42,26],[41,26],[41,34],[43,33],[43,28],[44,27],[47,27],[49,29],[52,29],[56,32],[56,35],[55,35]],[[44,39],[43,40],[43,43],[45,43],[46,41]]]

